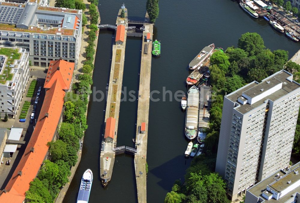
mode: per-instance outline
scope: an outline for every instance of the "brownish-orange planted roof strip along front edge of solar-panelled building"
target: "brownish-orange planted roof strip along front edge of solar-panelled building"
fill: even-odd
[[[58,29],[61,29],[58,31]],[[56,34],[61,33],[61,35],[74,35],[73,29],[65,29],[65,28],[50,28],[49,30],[43,30],[39,27],[32,26],[30,29],[16,28],[16,25],[8,25],[8,24],[0,24],[0,31],[15,31],[15,32],[28,32],[28,33],[37,33],[37,34]]]

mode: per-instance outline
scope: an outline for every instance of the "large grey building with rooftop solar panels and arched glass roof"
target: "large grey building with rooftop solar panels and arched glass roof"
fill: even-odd
[[[35,66],[63,58],[76,67],[81,35],[82,10],[0,2],[0,46],[26,49]]]

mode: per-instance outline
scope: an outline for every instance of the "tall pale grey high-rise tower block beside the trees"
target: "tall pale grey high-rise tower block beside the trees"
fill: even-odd
[[[300,84],[281,70],[226,95],[216,172],[235,200],[257,182],[287,169],[300,103]]]

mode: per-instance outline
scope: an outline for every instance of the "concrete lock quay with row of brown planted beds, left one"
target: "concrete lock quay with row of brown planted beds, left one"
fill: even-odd
[[[116,20],[116,25],[124,25],[127,24],[127,9],[124,8],[125,18],[120,18],[122,8],[119,10],[118,17]],[[105,187],[108,182],[112,178],[113,166],[115,163],[115,151],[113,148],[116,147],[117,144],[117,134],[118,134],[118,121],[119,121],[119,110],[120,110],[120,101],[121,101],[121,91],[122,91],[122,81],[123,81],[123,70],[124,70],[124,59],[125,59],[125,46],[126,46],[126,29],[125,29],[125,37],[123,44],[113,44],[113,56],[112,63],[110,68],[110,80],[108,86],[108,95],[107,95],[107,105],[106,105],[106,113],[105,120],[113,117],[116,119],[115,125],[115,135],[113,142],[105,142],[104,138],[101,146],[100,153],[100,179]]]

